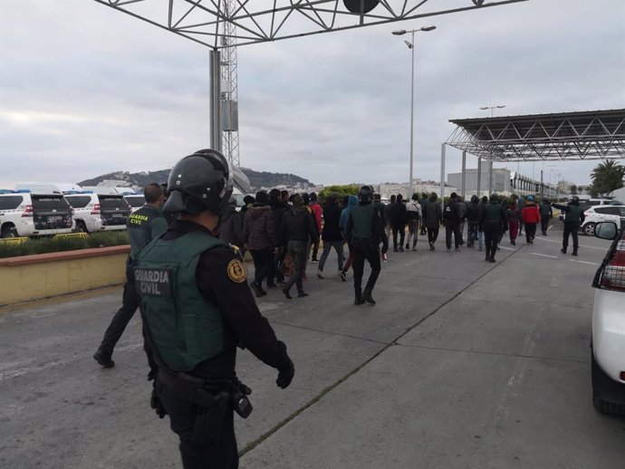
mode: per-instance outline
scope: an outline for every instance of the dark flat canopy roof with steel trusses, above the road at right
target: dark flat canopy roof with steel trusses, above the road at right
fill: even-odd
[[[447,145],[496,161],[625,158],[625,110],[484,119],[457,124]]]

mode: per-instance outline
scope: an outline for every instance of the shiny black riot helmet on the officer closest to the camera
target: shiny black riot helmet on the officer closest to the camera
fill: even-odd
[[[166,212],[198,215],[209,210],[221,215],[232,195],[232,171],[226,158],[214,149],[201,149],[182,158],[168,178]]]

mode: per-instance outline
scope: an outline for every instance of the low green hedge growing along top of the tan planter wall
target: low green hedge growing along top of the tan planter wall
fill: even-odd
[[[124,244],[130,244],[126,231],[93,233],[87,237],[31,238],[21,244],[0,241],[0,258]]]

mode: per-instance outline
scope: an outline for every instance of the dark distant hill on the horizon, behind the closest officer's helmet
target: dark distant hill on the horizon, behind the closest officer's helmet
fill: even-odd
[[[308,179],[286,173],[270,173],[268,171],[255,171],[254,169],[241,168],[245,176],[249,177],[250,184],[254,190],[261,187],[309,187],[312,183]],[[98,186],[101,182],[120,181],[131,187],[144,187],[150,182],[167,182],[170,169],[160,169],[159,171],[148,171],[141,173],[129,173],[116,171],[102,176],[85,179],[79,182],[79,186]],[[121,185],[119,185],[121,186]]]

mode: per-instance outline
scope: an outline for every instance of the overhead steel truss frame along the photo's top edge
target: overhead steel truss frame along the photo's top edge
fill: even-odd
[[[351,13],[343,0],[94,1],[196,43],[224,49],[528,0],[380,0],[368,13]],[[354,0],[345,3],[354,4]],[[234,8],[228,10],[227,5]],[[225,29],[224,23],[233,27]]]

